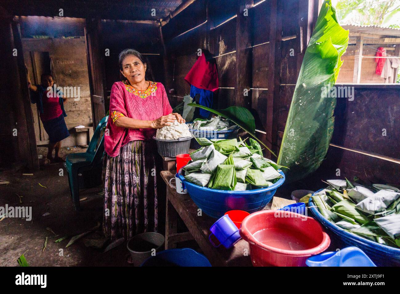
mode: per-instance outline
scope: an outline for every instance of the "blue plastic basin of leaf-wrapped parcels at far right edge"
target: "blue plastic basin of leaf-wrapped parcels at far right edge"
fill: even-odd
[[[320,189],[315,193],[318,193],[322,190],[323,189]],[[367,254],[377,266],[400,266],[400,249],[367,240],[336,226],[332,222],[326,220],[322,214],[320,214],[318,208],[315,207],[315,204],[311,198],[308,201],[308,206],[315,218],[327,229],[338,235],[344,244],[348,246],[357,246],[364,251],[365,254]]]

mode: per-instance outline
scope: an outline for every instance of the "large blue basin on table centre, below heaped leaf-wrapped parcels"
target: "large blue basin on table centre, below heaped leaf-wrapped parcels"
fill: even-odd
[[[178,177],[185,184],[189,196],[202,212],[213,218],[220,218],[229,210],[244,210],[248,213],[262,210],[271,201],[276,189],[285,181],[285,174],[280,171],[283,178],[266,188],[246,191],[216,190],[186,180],[182,171],[179,171]]]

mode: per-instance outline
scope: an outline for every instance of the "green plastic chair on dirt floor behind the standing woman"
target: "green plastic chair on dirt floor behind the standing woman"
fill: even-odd
[[[102,158],[104,154],[104,135],[100,140],[100,144],[96,149],[98,139],[102,128],[107,124],[108,116],[100,120],[90,140],[88,149],[82,153],[68,154],[64,166],[68,172],[68,182],[70,184],[70,192],[75,210],[79,210],[79,180],[78,174],[90,171],[93,173],[102,173]]]

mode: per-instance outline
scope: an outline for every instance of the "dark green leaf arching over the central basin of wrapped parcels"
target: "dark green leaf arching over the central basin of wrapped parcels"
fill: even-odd
[[[228,120],[232,121],[234,124],[237,124],[240,128],[242,128],[244,131],[246,131],[249,136],[251,136],[254,140],[258,141],[260,144],[262,144],[265,148],[268,149],[271,154],[273,154],[275,157],[276,154],[272,152],[268,146],[266,146],[262,141],[260,141],[255,133],[256,133],[256,124],[254,122],[254,116],[251,114],[250,110],[244,107],[240,106],[230,106],[225,109],[217,109],[214,110],[212,108],[208,108],[203,105],[199,104],[194,104],[190,103],[188,106],[194,106],[194,107],[199,107],[204,110],[208,110],[216,115],[222,116],[224,118],[227,118]]]

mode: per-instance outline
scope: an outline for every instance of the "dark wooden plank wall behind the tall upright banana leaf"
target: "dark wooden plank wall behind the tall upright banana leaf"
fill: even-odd
[[[240,5],[246,3],[224,0],[195,3],[196,6],[189,6],[162,28],[170,62],[168,74],[172,77],[166,88],[174,89],[168,94],[170,102],[174,106],[189,93],[190,86],[184,76],[196,61],[198,48],[206,48],[215,56],[220,80],[214,107],[240,105],[235,102],[240,89],[235,52],[238,18],[234,16]],[[258,137],[272,150],[279,151],[307,38],[318,15],[318,1],[255,1],[254,4],[249,9],[252,62],[248,70],[252,74],[252,89],[248,108],[256,118],[257,128],[266,132],[258,132]],[[346,63],[351,61],[345,62],[344,68]],[[338,99],[332,143],[400,158],[400,134],[396,129],[400,117],[399,90],[356,87],[354,101]],[[383,128],[388,135],[378,136]],[[296,185],[320,188],[320,180],[335,178],[338,168],[341,178],[358,176],[374,182],[399,183],[399,164],[330,147],[320,169]]]

